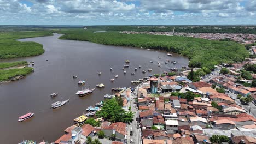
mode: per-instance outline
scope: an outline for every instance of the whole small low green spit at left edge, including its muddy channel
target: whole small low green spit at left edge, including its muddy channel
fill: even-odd
[[[0,63],[0,82],[9,82],[22,79],[23,76],[30,74],[33,68],[27,67],[26,61]]]

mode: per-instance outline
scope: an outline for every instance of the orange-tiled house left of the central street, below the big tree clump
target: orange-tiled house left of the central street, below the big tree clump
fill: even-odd
[[[103,127],[101,130],[104,132],[105,136],[107,137],[112,137],[113,135],[115,135],[115,140],[121,141],[121,142],[127,141],[126,123],[123,123],[123,122],[112,123],[107,127]]]

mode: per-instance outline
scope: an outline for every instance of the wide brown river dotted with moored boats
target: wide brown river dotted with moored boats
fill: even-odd
[[[86,41],[59,40],[61,34],[50,37],[21,39],[19,41],[35,41],[43,44],[45,52],[35,57],[16,58],[7,61],[34,61],[34,73],[19,81],[0,85],[0,141],[1,143],[18,143],[22,140],[54,142],[63,130],[73,124],[73,119],[82,115],[85,109],[102,101],[103,95],[110,93],[114,87],[132,87],[131,81],[141,79],[150,74],[159,74],[169,68],[181,68],[188,65],[188,58],[173,53],[167,56],[166,52],[155,52],[133,47],[107,46]],[[160,56],[159,59],[157,56]],[[45,59],[49,59],[46,61]],[[125,60],[130,60],[130,68],[122,68]],[[164,64],[166,59],[178,61]],[[153,63],[150,63],[153,61]],[[157,62],[162,67],[159,68]],[[131,72],[141,65],[135,75]],[[112,74],[109,68],[113,68]],[[153,71],[142,74],[142,70],[152,68]],[[101,75],[97,74],[101,71]],[[77,75],[77,79],[72,76]],[[114,82],[110,79],[119,75]],[[96,90],[85,97],[75,95],[81,87],[79,80],[85,80],[85,87],[96,87],[104,83],[105,88]],[[55,98],[50,94],[59,92]],[[55,101],[70,99],[69,103],[59,109],[50,109]],[[18,117],[27,112],[34,112],[33,118],[18,122]]]

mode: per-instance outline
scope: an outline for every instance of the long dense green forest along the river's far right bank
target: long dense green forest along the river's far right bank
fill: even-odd
[[[218,63],[243,61],[249,56],[245,46],[232,41],[214,41],[165,35],[121,34],[119,32],[93,33],[90,30],[62,30],[60,39],[84,40],[118,46],[144,47],[181,53],[190,59],[190,67],[214,68]]]

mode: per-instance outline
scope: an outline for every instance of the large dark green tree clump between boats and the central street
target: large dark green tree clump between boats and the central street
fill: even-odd
[[[109,122],[124,122],[131,123],[134,112],[125,111],[119,104],[117,99],[112,98],[107,100],[101,111],[97,111],[96,116],[103,117]]]

